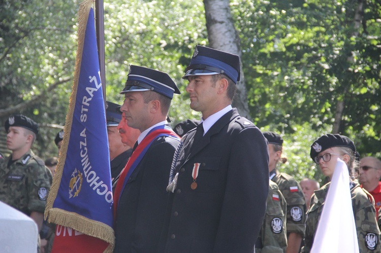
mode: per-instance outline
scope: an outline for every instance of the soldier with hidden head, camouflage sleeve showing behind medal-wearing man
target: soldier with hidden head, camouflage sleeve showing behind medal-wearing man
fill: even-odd
[[[285,201],[278,185],[270,180],[266,214],[256,242],[257,253],[284,253],[287,248]]]

